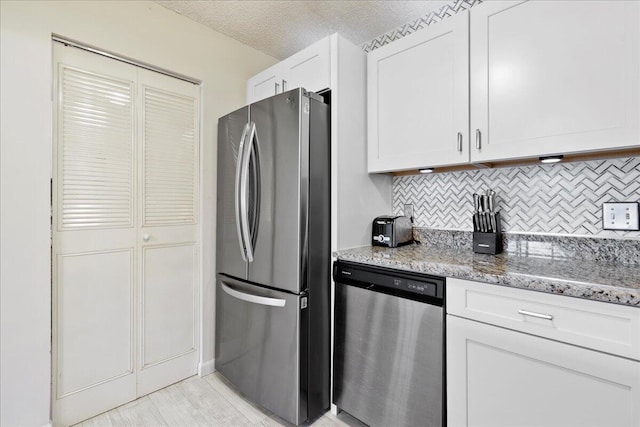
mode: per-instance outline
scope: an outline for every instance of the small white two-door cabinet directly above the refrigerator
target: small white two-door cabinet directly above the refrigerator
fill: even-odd
[[[311,92],[331,83],[331,43],[326,37],[247,81],[247,103],[304,87]]]

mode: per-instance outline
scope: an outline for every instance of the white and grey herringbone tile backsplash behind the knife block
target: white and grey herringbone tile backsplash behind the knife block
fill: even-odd
[[[640,201],[640,157],[393,178],[393,209],[413,203],[418,227],[472,230],[474,192],[497,193],[503,230],[638,237],[602,229],[602,203]]]

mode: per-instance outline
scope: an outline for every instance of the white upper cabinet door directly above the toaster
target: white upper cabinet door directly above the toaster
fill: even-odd
[[[468,12],[368,54],[369,172],[469,161]]]

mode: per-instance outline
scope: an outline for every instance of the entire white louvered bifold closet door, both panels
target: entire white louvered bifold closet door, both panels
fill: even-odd
[[[54,43],[53,420],[196,372],[199,87]]]

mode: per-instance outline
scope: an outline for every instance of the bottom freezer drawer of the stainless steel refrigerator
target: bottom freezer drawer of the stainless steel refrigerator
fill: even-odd
[[[303,297],[217,278],[216,370],[258,405],[291,423],[305,421]]]

